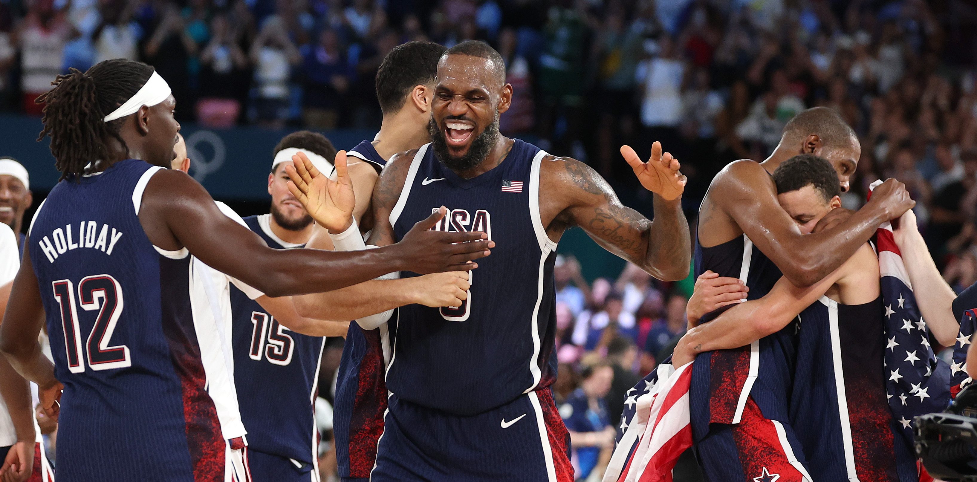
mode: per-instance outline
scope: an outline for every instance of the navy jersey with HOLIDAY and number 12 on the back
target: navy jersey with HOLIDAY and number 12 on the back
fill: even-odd
[[[139,209],[162,167],[69,177],[29,230],[55,374],[59,480],[223,482],[224,441],[194,331],[190,254],[149,241]]]

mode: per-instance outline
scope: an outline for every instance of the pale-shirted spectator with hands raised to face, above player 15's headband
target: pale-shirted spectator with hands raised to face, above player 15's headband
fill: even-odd
[[[255,118],[261,125],[280,129],[288,115],[291,68],[302,62],[302,56],[280,18],[265,20],[251,44],[250,58],[257,87]]]

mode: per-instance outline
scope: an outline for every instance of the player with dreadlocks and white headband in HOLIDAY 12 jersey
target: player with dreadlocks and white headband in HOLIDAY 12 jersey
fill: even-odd
[[[227,441],[193,329],[189,253],[277,296],[398,269],[467,270],[491,245],[478,233],[430,233],[439,211],[390,249],[272,249],[189,176],[164,167],[180,125],[152,67],[113,60],[73,70],[40,102],[62,181],[28,230],[0,350],[38,382],[49,416],[64,409],[66,480],[225,479]],[[84,238],[73,229],[82,223]],[[57,378],[37,343],[45,312]]]

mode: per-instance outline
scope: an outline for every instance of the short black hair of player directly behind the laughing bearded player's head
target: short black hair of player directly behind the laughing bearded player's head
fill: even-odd
[[[415,86],[433,82],[438,73],[438,60],[444,53],[444,45],[419,40],[394,47],[376,72],[380,110],[383,113],[401,110],[407,94]]]

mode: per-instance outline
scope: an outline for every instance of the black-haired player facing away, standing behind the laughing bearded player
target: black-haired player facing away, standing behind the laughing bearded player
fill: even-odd
[[[370,196],[387,159],[428,142],[427,122],[431,116],[434,78],[438,59],[445,50],[434,42],[407,42],[391,50],[377,70],[377,99],[383,111],[380,132],[372,142],[364,140],[347,153],[357,202],[353,217],[363,232],[373,224]],[[331,249],[333,244],[328,233],[319,228],[309,246]],[[363,303],[361,296],[331,299],[334,297],[331,294],[296,296],[295,307],[304,316],[318,318],[335,310],[340,303]],[[374,306],[372,311],[383,317],[383,312],[404,304],[397,301]],[[376,442],[383,432],[383,413],[387,410],[383,375],[390,359],[389,340],[386,323],[375,329],[362,329],[360,324],[353,323],[346,333],[332,413],[336,461],[344,482],[365,481],[376,461]]]

